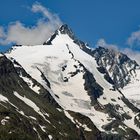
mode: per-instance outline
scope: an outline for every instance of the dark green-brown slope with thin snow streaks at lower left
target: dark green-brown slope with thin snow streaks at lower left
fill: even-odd
[[[73,124],[50,93],[14,59],[10,61],[4,55],[0,55],[0,122],[1,140],[100,137],[100,132],[86,117],[81,125]]]

